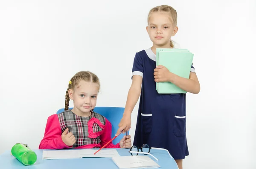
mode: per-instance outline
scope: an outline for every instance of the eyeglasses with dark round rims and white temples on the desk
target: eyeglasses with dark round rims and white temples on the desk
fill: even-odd
[[[143,154],[143,155],[151,155],[149,152],[151,149],[158,149],[158,150],[165,150],[168,152],[168,154],[170,155],[169,151],[167,149],[162,149],[162,148],[156,148],[156,147],[150,147],[148,146],[148,144],[143,144],[141,147],[137,147],[137,146],[132,146],[129,153],[131,153],[131,155],[138,155],[138,154]],[[140,151],[141,152],[140,152]],[[154,156],[151,155],[154,159],[156,159],[158,161],[158,159]],[[170,157],[172,158],[172,155],[170,155]]]

